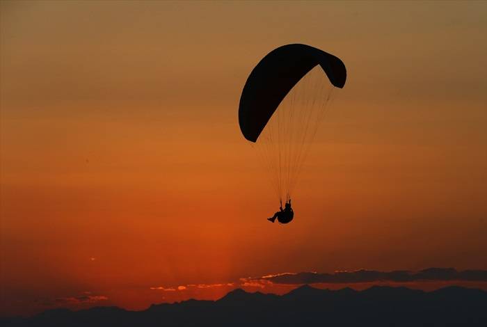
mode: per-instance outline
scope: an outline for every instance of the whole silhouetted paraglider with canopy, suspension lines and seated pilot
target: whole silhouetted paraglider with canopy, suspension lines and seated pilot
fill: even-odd
[[[285,209],[281,205],[269,221],[289,223],[294,217],[291,196],[298,175],[333,89],[345,81],[340,58],[302,44],[274,49],[250,72],[240,97],[240,129],[267,168],[281,204],[285,200]]]

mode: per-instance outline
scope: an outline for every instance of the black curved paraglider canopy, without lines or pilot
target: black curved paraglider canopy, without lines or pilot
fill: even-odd
[[[337,88],[343,88],[346,68],[337,57],[309,45],[283,45],[267,54],[250,73],[240,97],[239,125],[248,141],[255,142],[298,81],[320,65]]]

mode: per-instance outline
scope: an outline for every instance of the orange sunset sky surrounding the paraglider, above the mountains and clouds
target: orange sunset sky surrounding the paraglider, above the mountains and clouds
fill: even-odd
[[[0,8],[1,314],[287,271],[487,269],[486,2]],[[237,110],[292,42],[349,77],[276,225]]]

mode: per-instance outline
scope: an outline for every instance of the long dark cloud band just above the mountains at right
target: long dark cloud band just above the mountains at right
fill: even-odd
[[[275,284],[314,284],[314,283],[356,283],[356,282],[417,282],[417,281],[476,281],[486,282],[487,271],[453,268],[429,268],[421,271],[335,271],[335,273],[278,273],[253,278],[254,281],[266,280]],[[248,280],[247,280],[248,281]],[[250,282],[250,281],[248,281]]]

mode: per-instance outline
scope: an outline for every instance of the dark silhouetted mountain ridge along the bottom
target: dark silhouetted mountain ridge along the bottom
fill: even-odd
[[[0,326],[487,326],[487,292],[446,287],[423,292],[374,286],[316,289],[283,296],[235,289],[218,301],[151,305],[143,311],[56,309]]]

